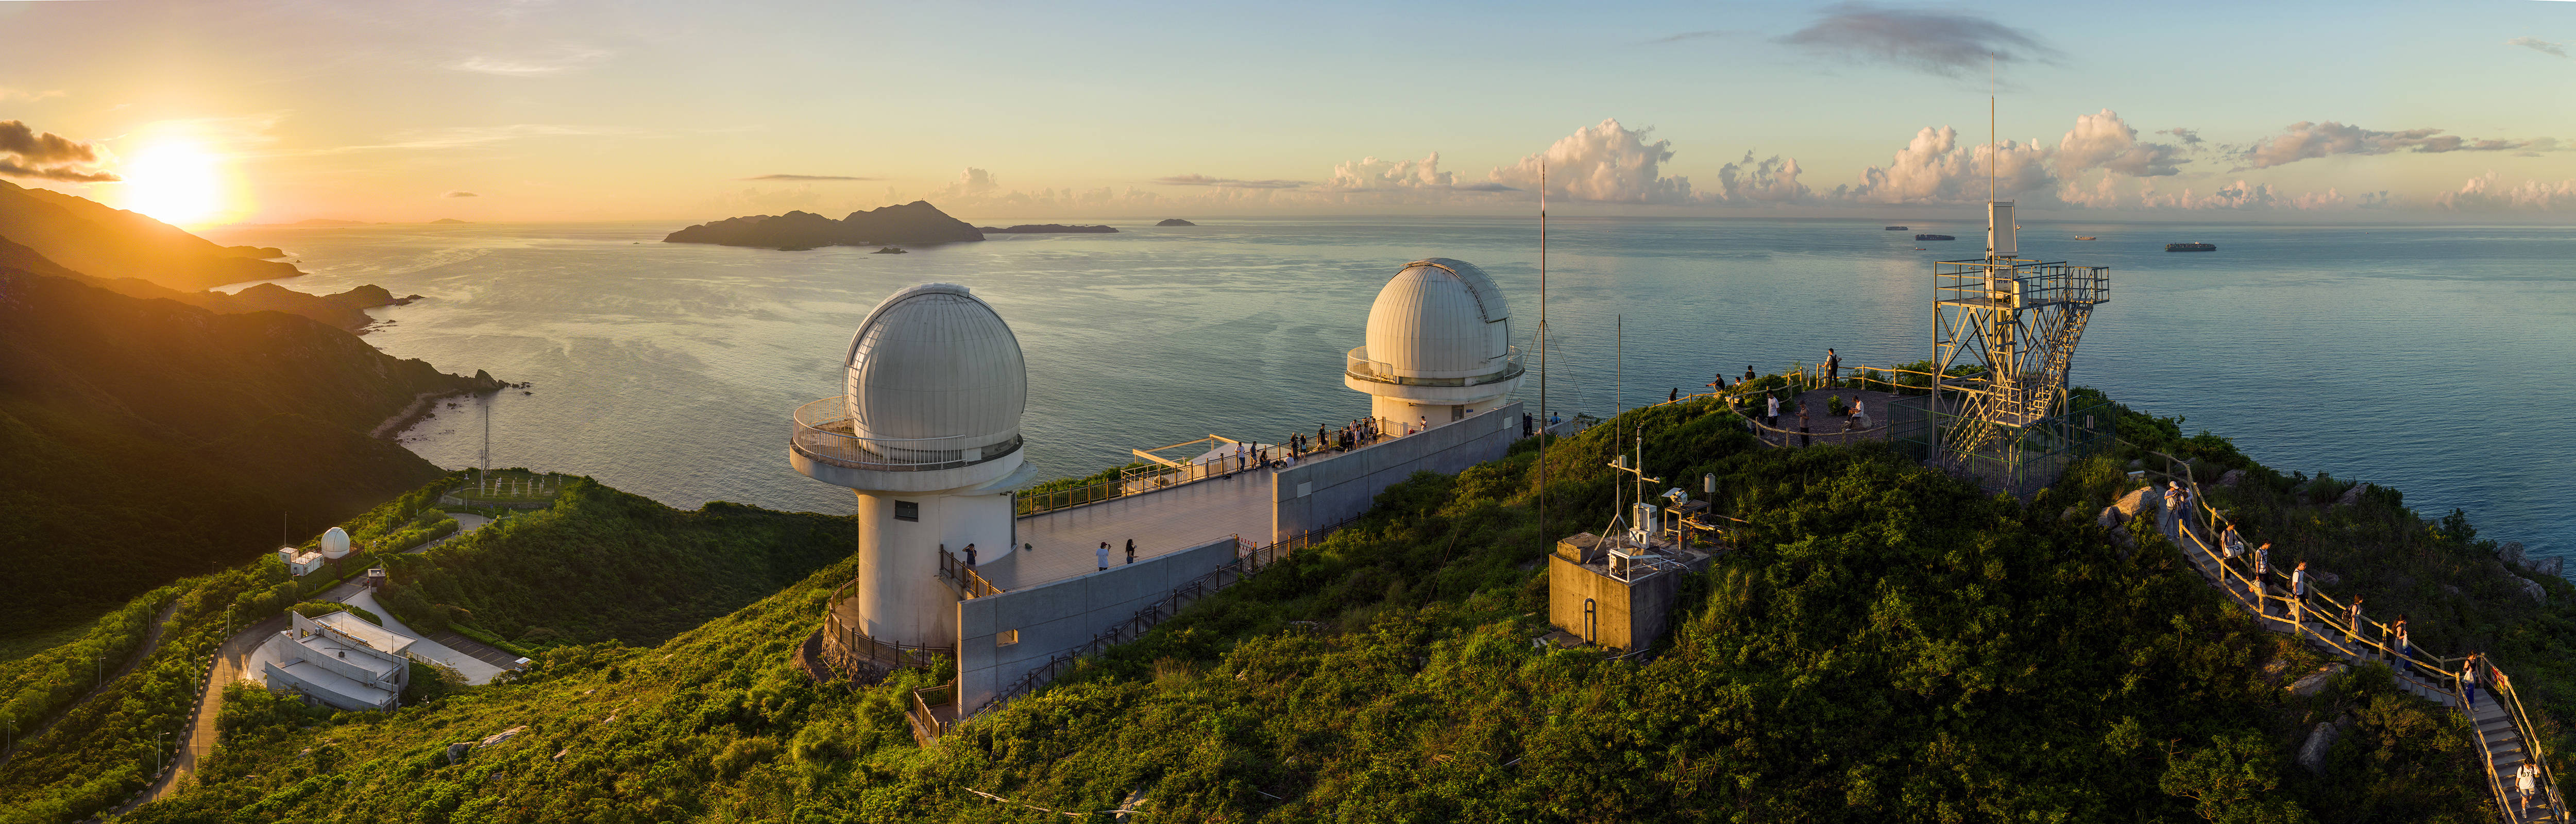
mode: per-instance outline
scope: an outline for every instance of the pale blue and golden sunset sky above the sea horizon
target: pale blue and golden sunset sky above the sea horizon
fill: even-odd
[[[1893,36],[1932,46],[2002,44],[2014,57],[2002,64],[2002,136],[2035,147],[1994,165],[2009,175],[2025,162],[2014,196],[2038,209],[2576,211],[2576,152],[2555,144],[2576,147],[2566,57],[2576,3],[2548,0],[0,0],[0,121],[95,147],[67,160],[75,178],[46,178],[57,167],[44,157],[18,157],[39,175],[15,183],[162,203],[183,201],[170,170],[201,162],[214,170],[198,178],[222,191],[219,219],[245,221],[670,219],[894,198],[989,216],[1492,211],[1535,196],[1535,180],[1510,173],[1535,154],[1577,178],[1636,175],[1589,198],[1558,188],[1566,209],[1834,214],[1958,201],[1960,188],[1929,178],[1852,191],[1870,167],[1904,165],[1899,152],[1927,126],[1958,136],[1950,154],[1917,157],[1924,175],[1984,178],[1973,149],[1986,136],[1984,70],[1945,77],[1850,36],[1801,44],[1801,31],[1852,31],[1837,21],[1896,21]],[[1942,41],[1950,28],[1968,39]],[[2058,149],[2076,116],[2105,108],[2117,113],[2105,129],[2172,147],[2172,173],[2069,165]],[[1613,118],[1618,129],[1605,129]],[[2257,142],[2300,121],[2344,126],[2347,149],[2246,162]],[[2159,134],[2177,126],[2202,142]],[[2427,134],[2514,149],[2421,152],[2439,147]],[[2334,134],[2306,136],[2326,147]],[[1448,178],[1419,167],[1432,152]],[[1795,183],[1728,193],[1718,178],[1747,152],[1795,160]],[[1636,167],[1646,154],[1651,173]],[[1417,165],[1358,167],[1363,157]],[[1360,178],[1337,178],[1345,165]],[[760,175],[871,180],[747,180]]]

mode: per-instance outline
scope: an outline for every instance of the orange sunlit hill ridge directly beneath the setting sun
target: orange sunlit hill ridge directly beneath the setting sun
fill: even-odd
[[[93,278],[180,291],[301,276],[270,247],[222,247],[149,216],[0,180],[0,237]]]

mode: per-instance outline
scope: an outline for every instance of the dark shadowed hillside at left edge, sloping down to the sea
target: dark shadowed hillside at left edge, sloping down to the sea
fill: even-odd
[[[309,538],[438,476],[368,430],[497,386],[276,314],[0,270],[0,636]],[[281,515],[283,523],[281,523]]]

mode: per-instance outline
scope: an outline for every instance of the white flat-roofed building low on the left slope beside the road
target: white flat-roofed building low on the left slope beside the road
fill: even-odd
[[[252,680],[343,711],[392,711],[402,700],[402,688],[412,682],[404,657],[412,639],[350,613],[286,615],[294,626],[250,651],[242,670]]]

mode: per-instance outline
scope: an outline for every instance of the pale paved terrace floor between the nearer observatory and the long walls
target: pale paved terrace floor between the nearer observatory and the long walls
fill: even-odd
[[[987,564],[981,572],[994,587],[1020,590],[1100,572],[1100,541],[1110,543],[1110,566],[1126,564],[1128,538],[1136,538],[1139,561],[1226,536],[1267,543],[1270,476],[1273,471],[1255,469],[1231,479],[1020,518],[1020,543],[1036,548],[1015,551],[1018,559]]]

